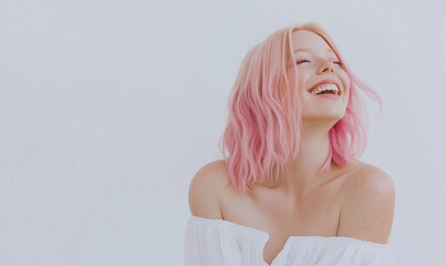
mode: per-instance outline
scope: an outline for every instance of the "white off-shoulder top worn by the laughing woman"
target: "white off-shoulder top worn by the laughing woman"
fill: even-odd
[[[268,265],[269,234],[224,219],[190,216],[184,248],[186,266],[393,266],[390,244],[341,236],[291,236]]]

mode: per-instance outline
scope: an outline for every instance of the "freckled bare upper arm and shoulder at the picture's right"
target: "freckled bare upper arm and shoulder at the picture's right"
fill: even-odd
[[[395,206],[392,178],[373,167],[357,173],[345,187],[338,235],[387,243]]]

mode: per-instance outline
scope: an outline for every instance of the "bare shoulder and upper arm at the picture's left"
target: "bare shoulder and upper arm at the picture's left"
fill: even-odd
[[[227,185],[222,160],[204,165],[189,185],[189,208],[193,215],[204,218],[222,218],[219,197]]]

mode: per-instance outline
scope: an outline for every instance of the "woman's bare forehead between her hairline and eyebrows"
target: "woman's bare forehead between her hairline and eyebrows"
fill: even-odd
[[[291,34],[293,51],[326,53],[333,52],[330,45],[314,32],[299,30]]]

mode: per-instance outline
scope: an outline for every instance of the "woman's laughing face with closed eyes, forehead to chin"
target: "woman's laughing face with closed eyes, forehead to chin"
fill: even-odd
[[[292,43],[302,122],[326,121],[334,124],[344,116],[349,102],[349,75],[334,51],[317,33],[295,31],[292,33]]]

